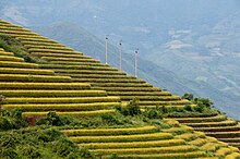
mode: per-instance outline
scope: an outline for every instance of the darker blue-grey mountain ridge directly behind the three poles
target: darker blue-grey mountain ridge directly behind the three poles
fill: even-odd
[[[94,57],[103,62],[105,62],[105,42],[98,39],[96,36],[92,35],[84,28],[79,27],[74,23],[57,23],[50,26],[45,27],[33,27],[35,30],[59,40],[79,51],[83,51],[86,54]],[[123,46],[124,48],[124,46]],[[119,49],[112,45],[109,45],[108,57],[110,65],[119,68]],[[133,52],[134,53],[134,52]],[[194,81],[194,78],[182,78],[180,70],[190,69],[191,63],[183,62],[182,57],[179,57],[178,53],[168,53],[166,52],[166,58],[164,56],[156,57],[156,54],[149,54],[148,58],[152,58],[152,61],[146,59],[148,58],[139,58],[139,77],[146,80],[147,82],[154,84],[155,86],[160,86],[164,89],[168,89],[173,94],[184,94],[192,93],[201,97],[212,98],[216,107],[221,111],[226,112],[228,115],[233,117],[235,119],[239,118],[239,108],[238,108],[238,96],[231,94],[224,94],[219,89],[213,87],[208,83]],[[140,50],[140,54],[144,56]],[[181,52],[181,54],[183,54]],[[171,57],[170,57],[171,56]],[[156,57],[154,59],[154,57]],[[178,60],[180,58],[180,60]],[[157,62],[158,61],[158,62]],[[159,64],[159,62],[171,61],[169,64]],[[182,62],[180,62],[182,61]],[[156,62],[156,63],[154,63]],[[184,64],[181,69],[179,66]],[[127,71],[129,74],[134,74],[134,54],[129,54],[123,52],[123,71]],[[199,63],[196,63],[199,64]],[[193,64],[196,65],[196,64]],[[164,65],[164,66],[161,66]],[[168,68],[176,65],[176,70],[169,71]],[[203,64],[199,64],[203,68]],[[199,66],[199,68],[200,68]],[[175,72],[175,73],[173,73]],[[195,70],[190,70],[191,74],[200,74],[197,68]],[[209,73],[208,73],[209,74]],[[232,111],[235,110],[235,111]]]

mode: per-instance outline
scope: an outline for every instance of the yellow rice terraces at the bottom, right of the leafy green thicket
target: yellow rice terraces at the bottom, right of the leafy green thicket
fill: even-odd
[[[182,125],[170,129],[142,126],[62,130],[62,133],[100,158],[110,158],[112,155],[118,158],[230,158],[239,151],[238,148]]]

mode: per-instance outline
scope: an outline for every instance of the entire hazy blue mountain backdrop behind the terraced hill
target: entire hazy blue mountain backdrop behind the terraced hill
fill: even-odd
[[[1,0],[0,17],[41,26],[36,30],[103,61],[105,35],[112,52],[122,39],[124,71],[133,73],[140,48],[141,77],[177,94],[209,97],[238,118],[239,8],[238,0]],[[111,59],[118,66],[118,56]]]

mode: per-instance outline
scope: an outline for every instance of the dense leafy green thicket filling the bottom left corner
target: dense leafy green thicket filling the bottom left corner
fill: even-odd
[[[0,158],[94,158],[49,126],[0,132]]]

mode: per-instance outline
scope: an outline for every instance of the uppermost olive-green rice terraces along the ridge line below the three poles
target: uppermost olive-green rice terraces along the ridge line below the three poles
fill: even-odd
[[[143,80],[100,63],[82,52],[76,52],[27,29],[21,32],[21,27],[1,22],[0,28],[3,30],[0,33],[16,37],[32,56],[46,61],[39,64],[40,69],[55,71],[60,76],[70,76],[73,82],[89,83],[96,89],[106,90],[108,96],[120,96],[122,101],[130,101],[137,97],[142,107],[183,107],[189,103],[188,100],[181,100],[179,96],[172,96],[169,91],[153,87]],[[8,29],[8,26],[11,27]]]

